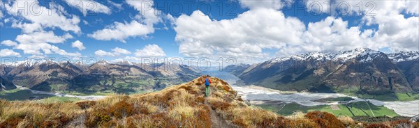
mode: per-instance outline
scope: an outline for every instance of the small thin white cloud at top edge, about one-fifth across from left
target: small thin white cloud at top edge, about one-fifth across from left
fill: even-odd
[[[110,15],[111,10],[102,3],[93,0],[65,0],[68,5],[78,8],[84,16],[94,15],[93,13],[105,13]],[[93,12],[93,13],[89,13]]]

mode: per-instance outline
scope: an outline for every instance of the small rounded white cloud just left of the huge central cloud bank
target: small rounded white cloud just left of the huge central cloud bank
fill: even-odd
[[[149,57],[149,56],[166,56],[163,49],[159,45],[145,45],[142,49],[135,51],[135,56]]]

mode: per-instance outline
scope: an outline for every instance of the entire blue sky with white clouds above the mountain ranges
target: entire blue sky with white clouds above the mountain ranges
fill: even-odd
[[[1,57],[19,60],[230,57],[257,63],[358,47],[388,53],[419,49],[418,1],[1,3]]]

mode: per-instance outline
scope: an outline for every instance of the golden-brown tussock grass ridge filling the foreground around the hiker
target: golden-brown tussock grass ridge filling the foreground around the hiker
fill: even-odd
[[[36,103],[0,100],[1,127],[418,127],[406,120],[371,124],[325,112],[283,117],[248,106],[226,81],[212,77],[204,97],[203,77],[154,93],[113,95],[98,101]],[[213,114],[211,114],[213,113]],[[215,126],[215,125],[214,125]]]

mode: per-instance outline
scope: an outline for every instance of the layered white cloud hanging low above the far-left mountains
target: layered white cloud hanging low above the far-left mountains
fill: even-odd
[[[57,36],[54,35],[52,31],[41,31],[17,35],[16,41],[20,43],[15,46],[15,49],[22,49],[24,54],[59,54],[62,56],[81,56],[81,54],[78,52],[68,53],[63,49],[59,49],[57,46],[50,45],[50,43],[63,43],[70,38],[73,38],[73,36],[68,33]],[[41,53],[41,50],[43,53]]]

